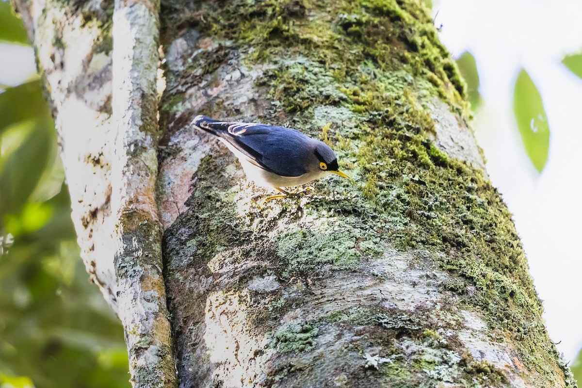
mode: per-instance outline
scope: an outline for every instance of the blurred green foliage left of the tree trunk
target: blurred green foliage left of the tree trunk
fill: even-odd
[[[26,42],[20,23],[0,0],[0,40]],[[0,388],[129,388],[122,326],[79,257],[41,83],[1,88]]]

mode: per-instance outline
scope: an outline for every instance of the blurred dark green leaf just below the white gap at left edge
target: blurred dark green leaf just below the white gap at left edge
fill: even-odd
[[[39,80],[7,88],[0,93],[0,134],[12,124],[47,116],[50,116],[50,112],[42,97]]]

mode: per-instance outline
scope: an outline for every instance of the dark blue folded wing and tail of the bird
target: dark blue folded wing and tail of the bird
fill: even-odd
[[[308,137],[299,131],[259,123],[221,122],[205,116],[197,116],[192,123],[222,138],[244,154],[247,161],[269,172],[281,176],[300,176],[307,172],[297,149],[298,140]]]

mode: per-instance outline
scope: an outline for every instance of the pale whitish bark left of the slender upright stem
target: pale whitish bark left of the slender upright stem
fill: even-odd
[[[17,0],[52,105],[81,256],[117,311],[111,166],[113,2]]]

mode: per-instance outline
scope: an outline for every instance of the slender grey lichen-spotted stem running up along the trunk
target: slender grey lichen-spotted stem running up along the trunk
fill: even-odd
[[[113,13],[114,265],[134,387],[176,386],[155,204],[158,10],[155,0],[116,0]]]

